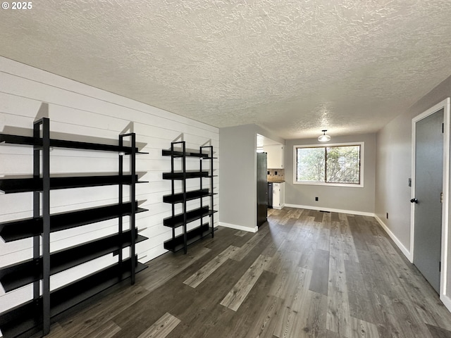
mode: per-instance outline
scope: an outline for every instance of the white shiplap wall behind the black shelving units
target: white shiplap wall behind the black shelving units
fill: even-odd
[[[163,218],[171,215],[171,205],[163,204],[162,196],[171,192],[171,182],[161,177],[163,172],[171,170],[171,161],[161,156],[161,149],[168,149],[171,141],[183,134],[187,148],[199,149],[200,145],[211,143],[217,156],[218,128],[0,57],[0,132],[32,136],[33,122],[42,117],[50,118],[51,138],[55,139],[84,142],[100,139],[103,143],[117,144],[118,134],[128,131],[137,134],[140,151],[149,153],[137,155],[140,180],[149,181],[137,184],[136,190],[140,206],[149,209],[137,214],[140,234],[149,237],[137,244],[137,254],[141,262],[147,262],[166,252],[163,242],[171,237],[171,229],[163,227]],[[199,160],[188,159],[188,169],[196,169],[198,165]],[[215,160],[215,175],[219,173],[218,166],[219,161]],[[118,155],[54,149],[50,168],[53,175],[117,173]],[[0,177],[31,174],[31,147],[0,146]],[[190,189],[198,187],[199,180],[189,180],[188,186]],[[214,188],[218,192],[218,177],[215,177]],[[125,189],[127,194],[128,189]],[[51,213],[113,204],[117,203],[117,198],[117,186],[54,190],[51,191]],[[199,201],[188,204],[191,208],[198,205]],[[218,208],[218,195],[214,208]],[[31,215],[32,193],[0,193],[0,223]],[[128,222],[128,218],[124,220]],[[54,232],[51,251],[116,232],[117,224],[117,220],[108,220]],[[0,267],[31,258],[31,248],[31,239],[10,243],[0,239]],[[124,252],[126,256],[128,251]],[[113,256],[109,255],[52,276],[51,289],[113,261]],[[31,298],[29,286],[8,294],[0,288],[0,312]]]

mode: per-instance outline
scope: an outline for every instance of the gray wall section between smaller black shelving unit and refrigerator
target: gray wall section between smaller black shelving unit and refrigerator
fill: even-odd
[[[258,125],[219,130],[219,223],[243,230],[257,230],[257,133],[284,140]]]

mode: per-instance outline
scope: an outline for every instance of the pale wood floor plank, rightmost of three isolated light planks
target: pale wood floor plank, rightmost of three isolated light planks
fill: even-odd
[[[270,257],[259,256],[254,264],[251,265],[249,270],[242,275],[240,280],[234,285],[227,296],[224,297],[221,301],[221,305],[226,306],[233,311],[237,311],[270,261]]]

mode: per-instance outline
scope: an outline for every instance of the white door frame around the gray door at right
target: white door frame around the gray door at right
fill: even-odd
[[[451,299],[447,296],[447,256],[448,256],[448,233],[449,233],[449,196],[450,196],[450,98],[435,104],[423,113],[412,118],[412,189],[411,198],[415,198],[415,161],[416,161],[416,123],[429,115],[440,111],[443,108],[443,206],[442,206],[442,239],[441,239],[441,268],[440,268],[440,299],[448,309],[451,306]],[[409,261],[414,262],[414,234],[415,234],[415,204],[410,208],[410,257]]]

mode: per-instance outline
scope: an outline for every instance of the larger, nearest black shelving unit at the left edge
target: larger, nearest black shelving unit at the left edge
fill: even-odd
[[[0,190],[5,194],[33,194],[31,218],[0,223],[0,236],[5,242],[33,238],[32,258],[0,268],[0,282],[5,292],[28,284],[33,285],[33,299],[0,313],[0,329],[6,338],[28,337],[39,331],[46,335],[50,330],[51,318],[121,280],[130,278],[131,284],[134,284],[135,274],[146,268],[146,265],[137,261],[135,253],[135,244],[147,239],[137,234],[135,225],[135,214],[147,211],[139,208],[135,201],[135,184],[141,183],[137,180],[135,156],[144,154],[137,151],[135,134],[119,135],[119,144],[115,146],[50,139],[49,126],[49,119],[42,118],[33,127],[33,137],[0,134],[0,143],[33,146],[33,177],[0,180]],[[130,146],[123,145],[124,137],[130,139]],[[116,152],[119,154],[118,175],[50,177],[50,149],[53,147]],[[125,156],[130,159],[130,173],[127,175],[123,173]],[[104,185],[118,185],[117,204],[66,213],[50,213],[52,189]],[[125,185],[130,187],[128,202],[123,201]],[[123,216],[130,217],[130,229],[123,229]],[[118,232],[115,234],[50,252],[51,232],[113,218],[118,218]],[[130,248],[130,257],[123,258],[123,249],[127,247]],[[51,275],[109,254],[118,256],[117,263],[50,291]]]

